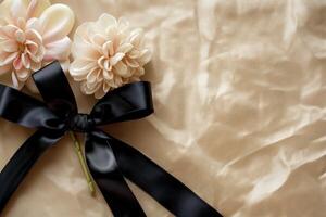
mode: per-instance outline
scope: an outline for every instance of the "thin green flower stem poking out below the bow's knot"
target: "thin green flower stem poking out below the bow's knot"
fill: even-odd
[[[75,152],[78,156],[79,164],[80,164],[84,175],[86,177],[90,194],[93,196],[96,194],[95,182],[93,182],[93,180],[88,171],[88,168],[86,166],[86,159],[85,159],[83,151],[82,151],[82,145],[80,145],[79,141],[77,140],[76,135],[73,131],[70,131],[70,136],[74,142]]]

